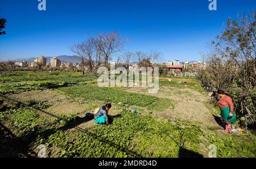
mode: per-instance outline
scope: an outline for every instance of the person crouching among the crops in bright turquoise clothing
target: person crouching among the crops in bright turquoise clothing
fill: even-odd
[[[94,122],[96,124],[109,124],[108,111],[112,107],[110,103],[103,105],[94,115]]]

